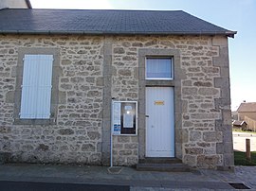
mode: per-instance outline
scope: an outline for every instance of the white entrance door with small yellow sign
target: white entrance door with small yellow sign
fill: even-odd
[[[146,157],[174,157],[174,88],[146,88]]]

